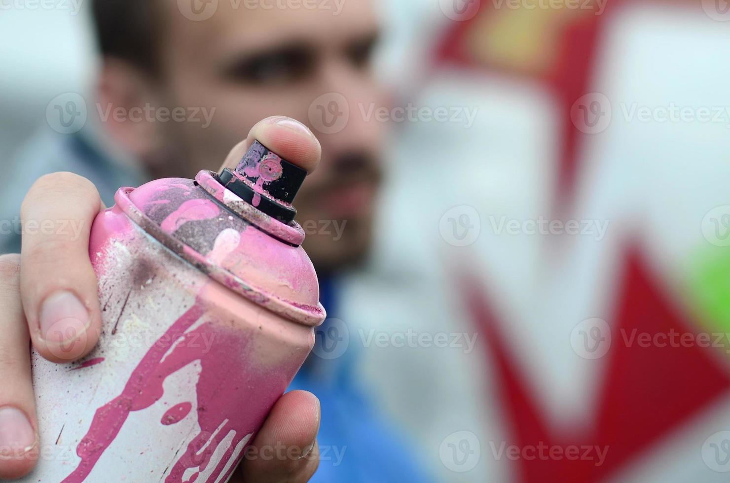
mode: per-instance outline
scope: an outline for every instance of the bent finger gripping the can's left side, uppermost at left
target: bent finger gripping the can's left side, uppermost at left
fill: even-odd
[[[102,207],[88,179],[55,173],[35,182],[20,210],[23,310],[34,347],[53,362],[81,358],[99,339],[99,295],[88,247]]]

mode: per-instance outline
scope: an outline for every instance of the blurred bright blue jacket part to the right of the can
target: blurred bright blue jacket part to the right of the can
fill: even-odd
[[[347,349],[335,358],[321,358],[329,350],[337,351],[336,287],[333,279],[320,281],[320,300],[327,309],[328,320],[318,328],[315,350],[299,371],[291,389],[308,390],[318,396],[322,421],[318,443],[320,466],[312,482],[383,483],[429,482],[423,465],[412,454],[412,445],[399,435],[358,386],[356,363],[358,347]]]

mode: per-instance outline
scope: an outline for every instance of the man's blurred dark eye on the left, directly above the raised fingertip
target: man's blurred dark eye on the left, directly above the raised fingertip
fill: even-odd
[[[228,77],[237,82],[258,85],[282,85],[307,77],[314,68],[314,56],[300,49],[286,49],[256,55],[228,69]]]

